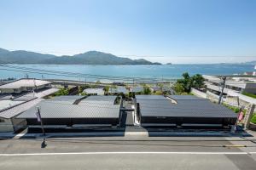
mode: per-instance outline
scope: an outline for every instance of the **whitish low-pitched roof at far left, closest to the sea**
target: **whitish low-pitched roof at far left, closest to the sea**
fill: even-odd
[[[20,79],[14,82],[9,82],[7,84],[4,84],[0,86],[0,89],[5,89],[5,88],[22,88],[22,87],[35,87],[36,86],[42,86],[49,84],[51,82],[49,81],[44,81],[44,80],[38,80],[38,79]]]

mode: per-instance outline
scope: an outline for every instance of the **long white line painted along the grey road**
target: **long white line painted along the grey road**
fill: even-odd
[[[62,156],[62,155],[253,155],[256,152],[60,152],[60,153],[24,153],[24,154],[0,154],[0,156]]]

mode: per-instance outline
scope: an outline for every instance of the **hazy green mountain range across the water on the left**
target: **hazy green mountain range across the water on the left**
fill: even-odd
[[[73,56],[55,56],[24,50],[9,51],[0,48],[1,64],[55,64],[55,65],[161,65],[146,59],[129,59],[117,57],[98,51],[89,51]]]

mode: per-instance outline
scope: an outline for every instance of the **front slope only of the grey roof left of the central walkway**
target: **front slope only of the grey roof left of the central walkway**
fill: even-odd
[[[40,107],[43,118],[119,118],[119,105],[70,105],[45,100],[36,106]],[[25,111],[18,118],[36,118],[35,107]]]

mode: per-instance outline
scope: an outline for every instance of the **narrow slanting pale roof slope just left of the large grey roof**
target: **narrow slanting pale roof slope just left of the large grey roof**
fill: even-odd
[[[9,119],[9,118],[12,118],[14,116],[17,116],[20,113],[22,113],[22,112],[28,110],[29,108],[31,108],[33,105],[37,105],[42,100],[44,100],[44,99],[32,99],[31,101],[28,101],[26,103],[17,105],[17,106],[12,107],[8,110],[1,111],[0,112],[0,117]]]

